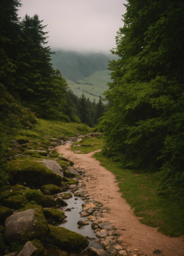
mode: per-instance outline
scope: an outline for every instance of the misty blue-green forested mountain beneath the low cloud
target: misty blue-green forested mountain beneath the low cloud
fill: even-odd
[[[89,77],[95,71],[107,69],[108,60],[116,60],[117,56],[103,53],[80,53],[74,51],[56,51],[51,55],[53,67],[61,71],[63,77],[77,82]]]

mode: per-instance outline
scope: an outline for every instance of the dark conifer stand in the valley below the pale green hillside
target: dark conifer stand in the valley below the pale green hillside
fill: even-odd
[[[84,94],[78,98],[70,89],[67,91],[67,101],[69,106],[67,114],[71,121],[81,121],[90,127],[94,127],[103,113],[107,111],[101,96],[97,103],[95,99],[91,102],[89,98],[86,99]]]

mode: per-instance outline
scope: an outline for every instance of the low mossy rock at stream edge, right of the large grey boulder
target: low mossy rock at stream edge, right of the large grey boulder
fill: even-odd
[[[85,236],[70,231],[64,227],[48,225],[49,232],[46,241],[54,241],[57,247],[64,250],[81,250],[88,246],[89,242]]]

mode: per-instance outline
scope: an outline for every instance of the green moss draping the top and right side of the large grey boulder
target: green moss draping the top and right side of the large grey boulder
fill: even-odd
[[[27,241],[33,240],[35,238],[37,238],[43,242],[44,237],[48,232],[48,223],[44,216],[44,209],[41,205],[29,203],[29,204],[25,205],[25,207],[23,209],[20,209],[18,211],[25,211],[27,209],[34,209],[36,211],[35,227],[40,230],[41,235],[38,236],[37,234],[35,234],[33,232],[28,232],[27,230],[25,230],[23,233],[22,242],[27,242]]]

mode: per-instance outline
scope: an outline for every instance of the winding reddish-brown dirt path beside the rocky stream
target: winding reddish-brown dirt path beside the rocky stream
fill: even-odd
[[[164,236],[157,232],[157,228],[148,227],[139,222],[128,203],[118,192],[119,188],[115,183],[115,176],[104,167],[100,166],[99,161],[91,158],[94,152],[89,154],[76,154],[70,150],[70,145],[56,147],[58,153],[63,153],[64,157],[74,162],[75,168],[85,170],[85,174],[92,174],[98,179],[86,182],[86,190],[91,198],[100,201],[107,206],[110,211],[104,214],[107,221],[110,221],[116,228],[123,228],[122,241],[130,255],[155,255],[153,250],[161,250],[160,255],[182,256],[183,241],[182,237],[174,238]],[[99,150],[95,151],[98,152]],[[139,249],[140,251],[134,251]]]

